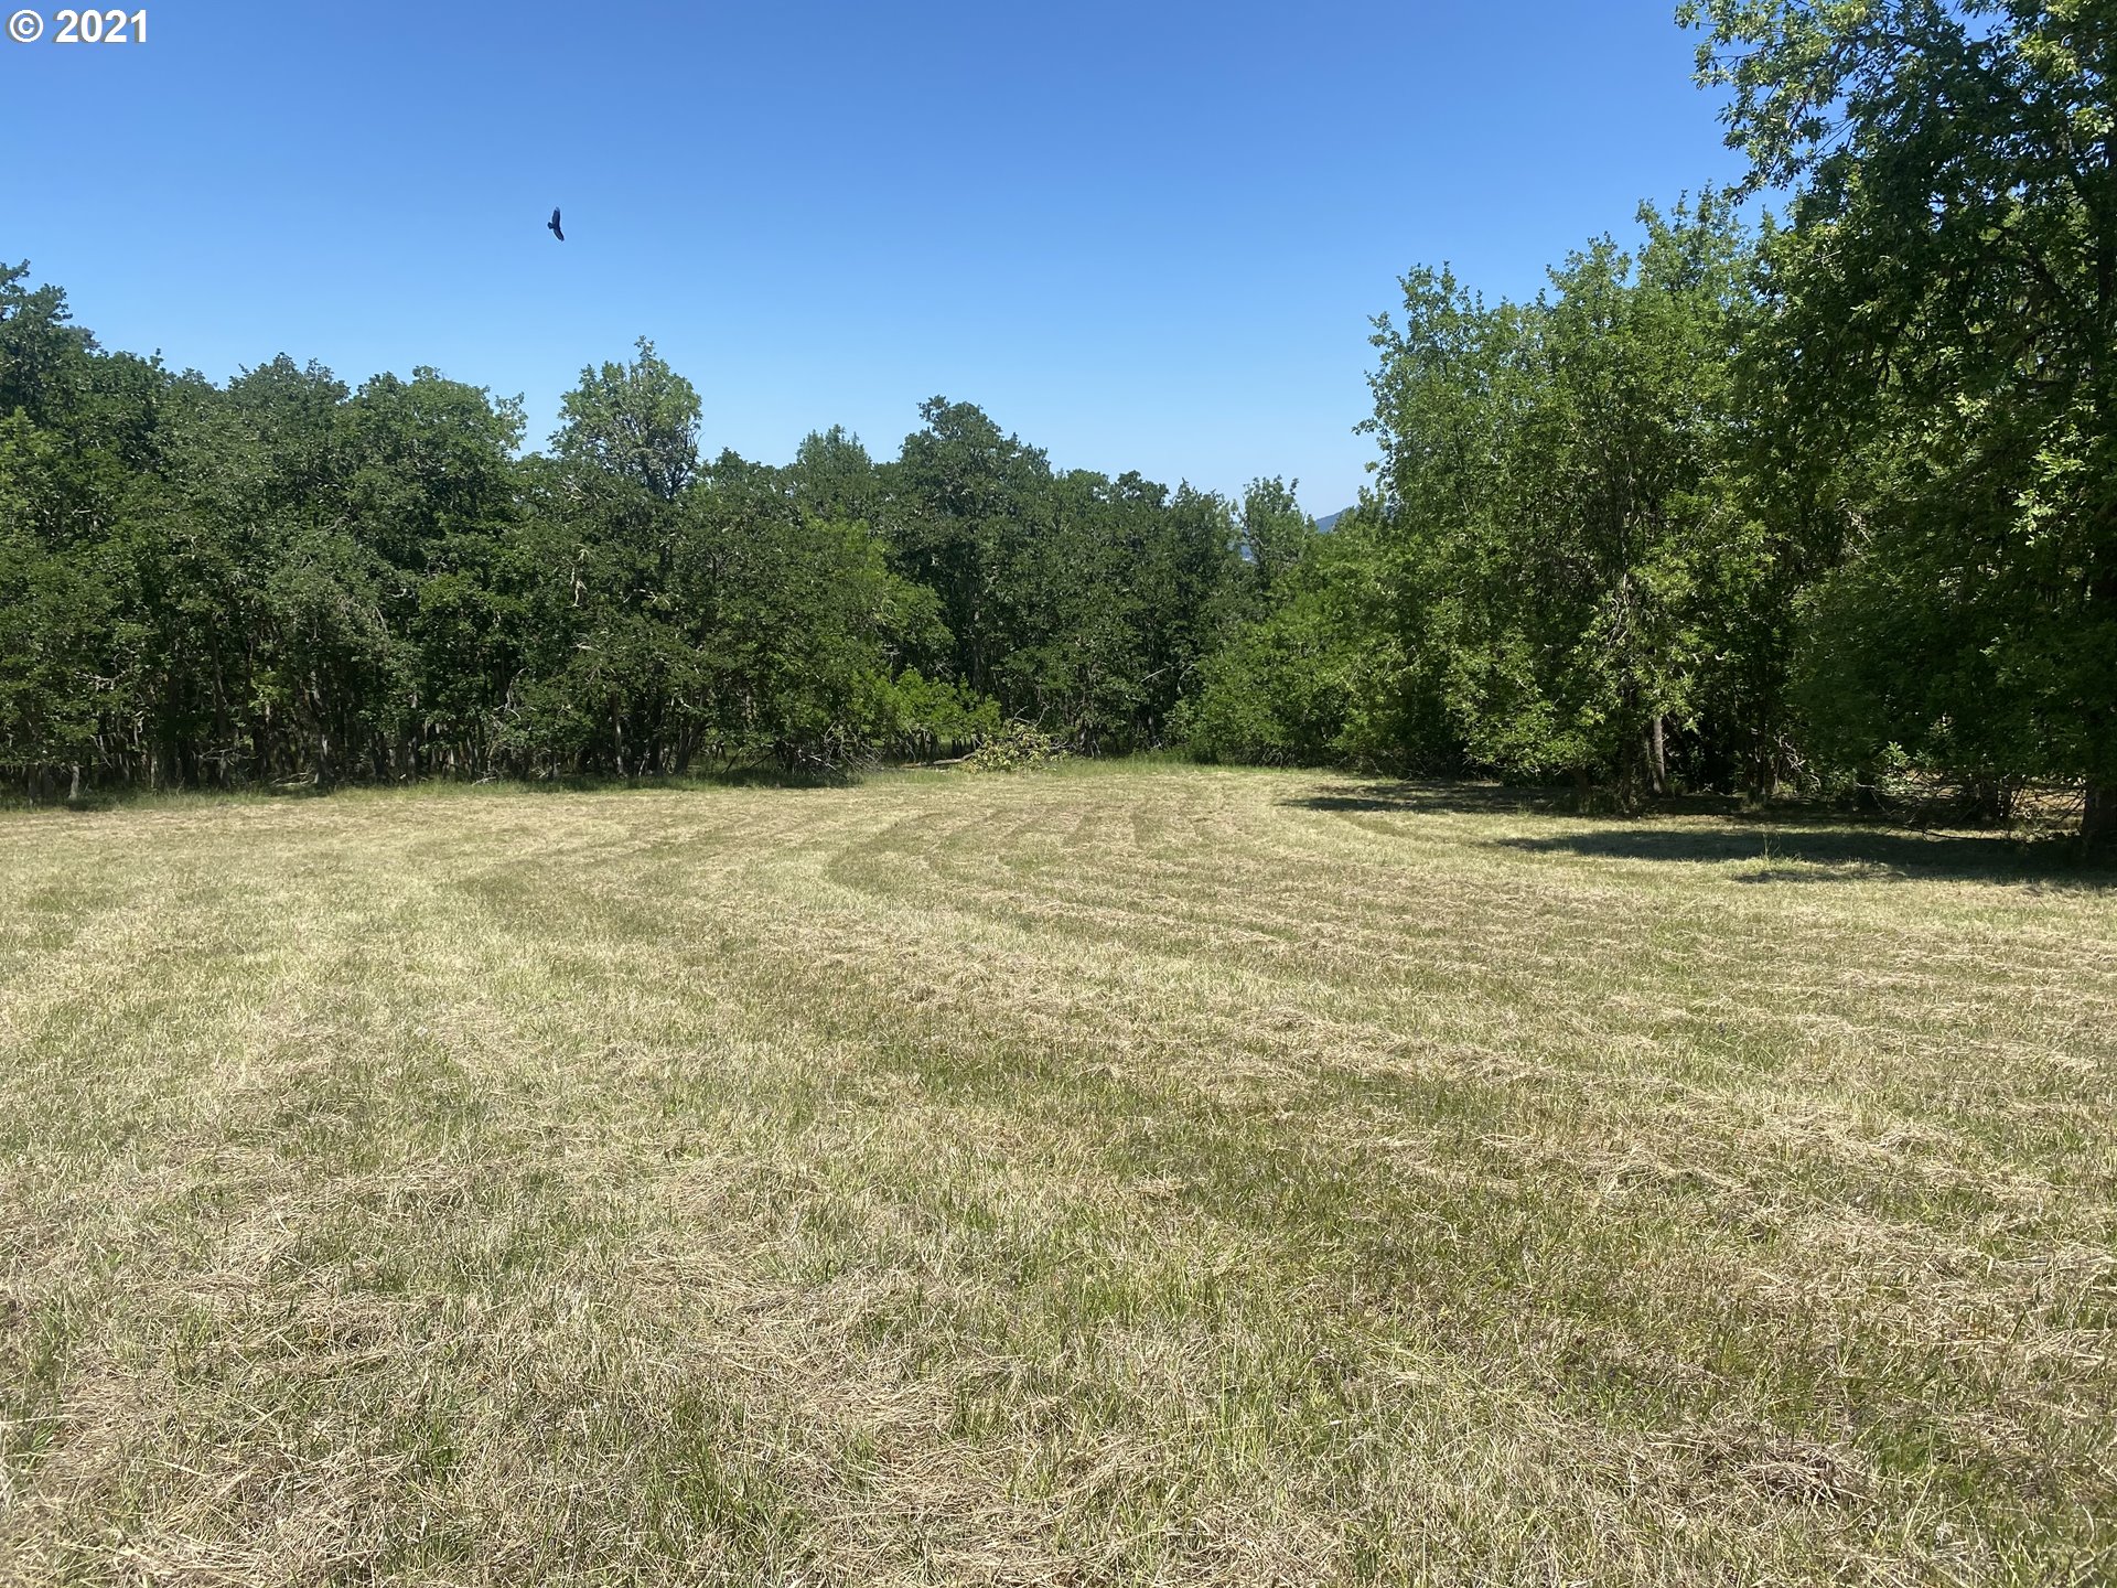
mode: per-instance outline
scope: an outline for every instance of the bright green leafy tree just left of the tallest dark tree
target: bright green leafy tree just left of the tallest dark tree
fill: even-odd
[[[1526,305],[1406,277],[1370,426],[1412,716],[1626,798],[1698,737],[1751,536],[1719,481],[1742,235],[1708,201],[1641,222],[1636,256],[1596,239]]]

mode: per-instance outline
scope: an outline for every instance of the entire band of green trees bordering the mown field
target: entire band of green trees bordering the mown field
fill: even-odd
[[[32,790],[1090,754],[1876,798],[2117,830],[2117,28],[1696,0],[1749,180],[1526,303],[1416,269],[1325,534],[1056,470],[699,451],[646,341],[517,402],[104,351],[0,271],[0,766]],[[1785,214],[1749,199],[1778,195]]]

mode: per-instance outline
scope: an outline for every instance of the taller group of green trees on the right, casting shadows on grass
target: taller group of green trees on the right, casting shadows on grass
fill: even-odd
[[[1747,184],[1376,322],[1378,479],[1196,747],[1634,802],[2070,788],[2117,832],[2117,19],[1696,0]],[[1776,191],[1783,218],[1744,220]]]

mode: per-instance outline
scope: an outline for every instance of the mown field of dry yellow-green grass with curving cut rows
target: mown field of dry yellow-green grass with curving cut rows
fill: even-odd
[[[1086,766],[0,817],[0,1582],[2117,1575],[2117,885]]]

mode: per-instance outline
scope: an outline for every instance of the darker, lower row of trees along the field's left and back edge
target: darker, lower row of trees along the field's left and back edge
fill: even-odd
[[[1166,743],[1291,512],[1054,470],[934,398],[895,459],[843,430],[703,459],[641,341],[521,453],[432,368],[227,385],[104,351],[0,269],[0,764],[32,794],[271,779],[834,771],[1035,722]]]

